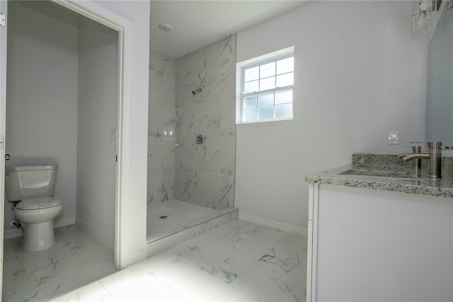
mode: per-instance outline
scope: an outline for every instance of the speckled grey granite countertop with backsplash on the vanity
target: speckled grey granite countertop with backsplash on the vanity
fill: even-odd
[[[352,164],[305,177],[311,184],[335,184],[351,188],[373,189],[453,197],[453,157],[442,157],[442,178],[428,178],[428,160],[415,170],[411,162],[397,155],[352,155]]]

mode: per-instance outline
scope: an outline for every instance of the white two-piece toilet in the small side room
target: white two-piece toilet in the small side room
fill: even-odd
[[[58,166],[15,165],[6,167],[6,196],[17,203],[14,216],[23,226],[22,249],[45,250],[55,245],[54,218],[63,204],[54,198]]]

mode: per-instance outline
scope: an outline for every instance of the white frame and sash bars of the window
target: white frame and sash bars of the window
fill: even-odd
[[[275,62],[278,60],[285,59],[287,57],[294,57],[294,46],[287,47],[282,50],[277,50],[276,52],[270,52],[266,55],[261,55],[259,57],[254,57],[250,60],[245,60],[236,64],[236,124],[245,124],[245,123],[263,123],[263,122],[274,122],[274,121],[288,121],[294,119],[294,84],[284,87],[275,87],[274,89],[268,89],[263,91],[253,91],[248,94],[242,94],[243,91],[243,79],[245,69],[253,68],[259,65],[265,65],[266,63]],[[294,72],[294,69],[293,69]],[[292,117],[290,118],[269,118],[265,120],[256,120],[256,121],[243,121],[243,97],[244,96],[253,96],[256,94],[265,94],[266,92],[278,92],[278,91],[293,91],[292,99]],[[275,104],[274,104],[275,107]]]

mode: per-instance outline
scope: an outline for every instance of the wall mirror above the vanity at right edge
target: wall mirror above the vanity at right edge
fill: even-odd
[[[445,5],[428,47],[426,140],[453,146],[453,3]]]

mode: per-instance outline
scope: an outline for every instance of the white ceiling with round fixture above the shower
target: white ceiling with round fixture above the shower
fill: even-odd
[[[151,48],[176,59],[304,3],[306,0],[151,0]],[[161,23],[173,30],[160,30]]]

